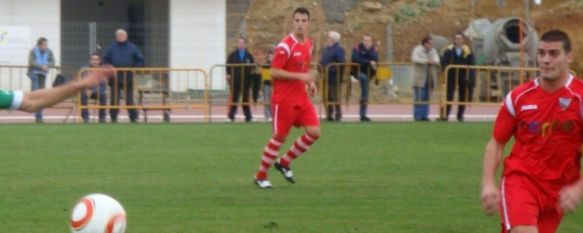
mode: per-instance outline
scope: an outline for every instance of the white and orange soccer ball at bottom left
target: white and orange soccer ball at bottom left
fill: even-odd
[[[126,212],[115,199],[90,194],[77,202],[71,215],[72,233],[124,233]]]

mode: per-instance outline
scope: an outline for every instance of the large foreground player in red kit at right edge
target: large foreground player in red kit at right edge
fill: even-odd
[[[500,108],[484,155],[481,199],[486,213],[500,211],[502,232],[553,233],[581,201],[583,82],[569,73],[572,61],[567,34],[546,32],[537,52],[540,76],[508,93]],[[494,176],[512,136],[498,189]]]

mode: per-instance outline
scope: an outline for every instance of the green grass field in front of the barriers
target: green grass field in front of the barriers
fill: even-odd
[[[124,205],[128,233],[500,232],[479,203],[490,123],[322,127],[297,184],[272,170],[259,190],[267,124],[2,125],[0,232],[68,232],[93,192]],[[559,232],[582,229],[575,214]]]

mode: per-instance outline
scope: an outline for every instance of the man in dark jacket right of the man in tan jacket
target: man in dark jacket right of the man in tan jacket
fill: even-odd
[[[447,65],[474,65],[474,55],[470,48],[464,44],[464,35],[457,33],[454,36],[454,44],[446,47],[443,57],[441,59],[441,67],[447,68]],[[453,101],[455,95],[456,84],[458,86],[458,105],[457,120],[464,120],[464,112],[466,105],[464,103],[471,102],[474,94],[475,86],[474,71],[471,69],[450,69],[447,74],[447,101]],[[451,112],[451,104],[446,106],[445,116],[440,120],[447,121],[449,113]]]

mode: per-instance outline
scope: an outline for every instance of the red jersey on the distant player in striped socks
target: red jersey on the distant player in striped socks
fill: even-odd
[[[277,45],[271,67],[288,72],[306,73],[310,69],[311,60],[312,39],[307,38],[300,43],[293,34],[290,34]],[[306,82],[273,79],[272,102],[274,104],[303,104],[309,100]]]

